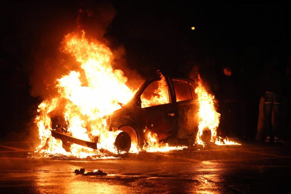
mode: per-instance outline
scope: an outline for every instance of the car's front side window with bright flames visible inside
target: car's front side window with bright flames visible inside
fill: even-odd
[[[142,108],[170,103],[169,88],[164,79],[152,82],[140,96]]]

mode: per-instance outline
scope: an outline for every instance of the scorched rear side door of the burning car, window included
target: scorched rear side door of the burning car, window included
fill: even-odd
[[[197,133],[199,104],[195,87],[188,80],[172,79],[177,106],[177,138],[187,138]]]

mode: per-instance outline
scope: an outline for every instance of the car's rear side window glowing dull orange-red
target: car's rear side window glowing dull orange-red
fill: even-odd
[[[177,102],[191,100],[189,83],[185,80],[173,79]]]

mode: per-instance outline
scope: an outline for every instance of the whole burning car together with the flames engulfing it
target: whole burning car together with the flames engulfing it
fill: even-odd
[[[106,158],[120,151],[167,152],[181,147],[162,142],[204,146],[216,141],[220,114],[199,77],[194,82],[159,72],[135,91],[124,73],[112,68],[111,50],[88,40],[84,31],[65,35],[61,51],[79,68],[56,77],[57,91],[38,105],[35,124],[41,142],[35,152]]]

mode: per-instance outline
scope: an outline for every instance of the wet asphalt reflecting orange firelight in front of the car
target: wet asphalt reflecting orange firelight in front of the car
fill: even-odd
[[[120,159],[36,159],[0,143],[0,193],[291,193],[291,146],[242,142]],[[75,175],[100,169],[106,176]]]

